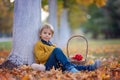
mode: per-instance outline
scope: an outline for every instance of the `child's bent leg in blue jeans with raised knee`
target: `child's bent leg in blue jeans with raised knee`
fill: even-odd
[[[46,62],[46,69],[51,69],[52,66],[57,68],[57,63],[60,62],[62,64],[63,70],[73,70],[71,72],[77,72],[77,70],[73,69],[74,65],[70,63],[70,61],[67,59],[67,57],[64,55],[61,49],[55,48],[53,52],[51,53],[49,59]]]

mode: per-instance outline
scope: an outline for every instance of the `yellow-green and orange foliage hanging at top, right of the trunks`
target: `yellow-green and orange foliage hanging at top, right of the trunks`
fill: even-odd
[[[71,0],[71,2],[68,3],[68,15],[71,27],[73,29],[78,28],[82,23],[87,21],[87,16],[89,14],[88,8],[91,5],[95,5],[96,7],[100,8],[105,6],[105,4],[106,0]]]

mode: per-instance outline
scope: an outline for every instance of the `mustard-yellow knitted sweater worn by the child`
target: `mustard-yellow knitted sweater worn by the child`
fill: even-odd
[[[54,48],[55,45],[49,46],[43,44],[41,41],[38,41],[34,46],[34,56],[36,63],[45,64]]]

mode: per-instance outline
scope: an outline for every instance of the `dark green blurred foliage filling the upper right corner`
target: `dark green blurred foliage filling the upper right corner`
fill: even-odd
[[[119,38],[119,0],[108,0],[106,6],[98,9],[95,5],[88,7],[90,18],[82,27],[85,32],[93,34],[93,38],[103,35],[103,38]]]

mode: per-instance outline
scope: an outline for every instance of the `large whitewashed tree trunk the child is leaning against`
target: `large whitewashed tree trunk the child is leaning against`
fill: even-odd
[[[15,0],[13,46],[2,67],[13,68],[34,62],[33,46],[41,24],[41,0]]]

